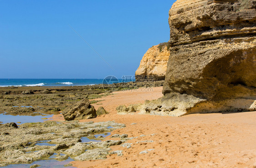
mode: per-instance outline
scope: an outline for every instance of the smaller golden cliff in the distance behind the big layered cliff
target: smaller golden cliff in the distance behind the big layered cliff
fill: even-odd
[[[160,43],[149,48],[135,72],[136,80],[147,76],[154,77],[154,80],[164,80],[169,55],[169,43]]]

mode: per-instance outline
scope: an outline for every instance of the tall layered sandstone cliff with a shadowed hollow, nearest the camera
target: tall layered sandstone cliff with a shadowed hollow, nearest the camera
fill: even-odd
[[[256,99],[256,0],[177,0],[164,97],[144,113],[248,110]]]

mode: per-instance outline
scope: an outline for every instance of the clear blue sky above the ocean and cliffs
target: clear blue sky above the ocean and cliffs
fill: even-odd
[[[148,48],[169,40],[173,3],[0,0],[0,78],[134,75]]]

